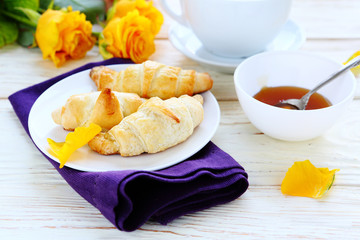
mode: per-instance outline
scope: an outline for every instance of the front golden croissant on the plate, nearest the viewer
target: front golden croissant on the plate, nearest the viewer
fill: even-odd
[[[153,97],[137,112],[124,118],[108,132],[89,142],[92,150],[104,154],[135,156],[156,153],[185,141],[203,120],[201,95],[161,100]]]

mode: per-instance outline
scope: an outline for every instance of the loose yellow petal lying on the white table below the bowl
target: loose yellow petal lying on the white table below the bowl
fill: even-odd
[[[316,168],[309,160],[295,162],[281,184],[286,195],[321,198],[332,186],[339,169]]]

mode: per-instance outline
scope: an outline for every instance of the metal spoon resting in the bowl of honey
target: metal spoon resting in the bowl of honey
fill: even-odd
[[[360,57],[354,59],[353,61],[351,61],[350,63],[345,65],[345,67],[343,67],[339,71],[333,73],[328,79],[326,79],[325,81],[323,81],[322,83],[317,85],[314,89],[310,90],[302,98],[283,100],[283,101],[279,102],[278,104],[276,104],[275,106],[281,107],[281,108],[286,108],[286,109],[305,110],[306,105],[309,102],[309,98],[313,93],[315,93],[317,90],[319,90],[321,87],[323,87],[327,83],[331,82],[333,79],[340,76],[342,73],[346,72],[347,70],[349,70],[353,67],[358,66],[359,64],[360,64]]]

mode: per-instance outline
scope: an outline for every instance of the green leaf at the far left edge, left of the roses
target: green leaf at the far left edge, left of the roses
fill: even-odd
[[[0,15],[0,47],[5,46],[16,41],[19,35],[19,30],[14,21]]]

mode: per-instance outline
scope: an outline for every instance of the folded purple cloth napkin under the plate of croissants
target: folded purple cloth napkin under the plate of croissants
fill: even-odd
[[[126,63],[132,62],[113,58],[89,63],[18,91],[9,100],[29,134],[30,109],[47,88],[94,66]],[[148,220],[167,224],[184,214],[227,203],[241,196],[249,185],[245,170],[212,142],[189,159],[158,171],[59,169],[57,162],[44,156],[76,192],[123,231],[134,231]]]

